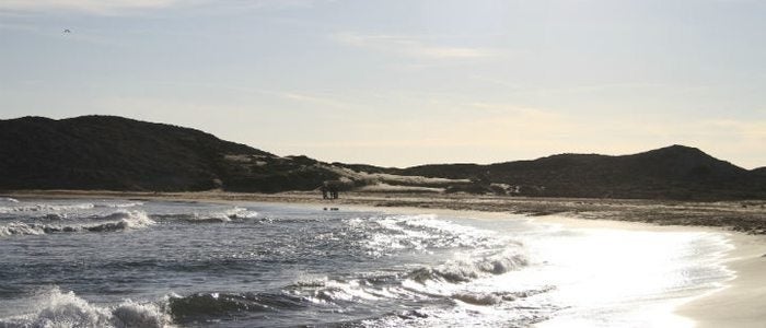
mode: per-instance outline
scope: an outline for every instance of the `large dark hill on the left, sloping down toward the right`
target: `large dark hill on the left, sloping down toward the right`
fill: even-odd
[[[279,191],[332,176],[303,168],[199,130],[121,117],[0,120],[0,189]]]

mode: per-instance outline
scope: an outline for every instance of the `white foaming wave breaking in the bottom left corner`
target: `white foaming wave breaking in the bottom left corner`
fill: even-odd
[[[0,326],[21,327],[167,327],[171,317],[153,303],[125,301],[114,306],[90,304],[73,292],[54,288],[36,297],[34,313],[0,319]]]

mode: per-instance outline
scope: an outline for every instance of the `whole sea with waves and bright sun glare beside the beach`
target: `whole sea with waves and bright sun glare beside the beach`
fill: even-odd
[[[0,198],[0,327],[684,327],[723,234]]]

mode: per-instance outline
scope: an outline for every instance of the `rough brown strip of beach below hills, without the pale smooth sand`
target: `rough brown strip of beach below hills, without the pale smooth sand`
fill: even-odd
[[[0,194],[2,195],[2,194]],[[374,208],[425,208],[510,212],[542,216],[559,214],[583,220],[643,222],[654,225],[711,226],[754,235],[766,235],[766,200],[677,201],[650,199],[527,198],[465,194],[345,192],[323,200],[315,191],[245,194],[225,191],[146,192],[83,190],[18,190],[16,198],[126,198],[185,201],[254,201],[280,203],[361,204]]]

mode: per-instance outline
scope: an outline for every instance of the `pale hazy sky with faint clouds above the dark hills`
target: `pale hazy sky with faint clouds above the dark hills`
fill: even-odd
[[[381,166],[684,144],[754,168],[764,17],[757,0],[0,0],[0,119],[118,115]]]

